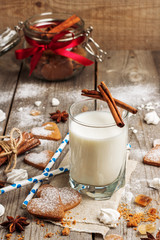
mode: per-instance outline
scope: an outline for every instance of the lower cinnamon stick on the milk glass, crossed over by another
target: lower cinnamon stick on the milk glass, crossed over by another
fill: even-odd
[[[96,91],[96,90],[83,89],[83,90],[82,90],[82,96],[92,97],[92,98],[100,99],[100,100],[103,100],[103,101],[104,101],[101,93],[98,92],[98,91]],[[116,105],[117,105],[118,107],[121,107],[121,108],[123,108],[123,109],[125,109],[125,110],[127,110],[128,112],[131,112],[131,113],[133,113],[133,114],[136,114],[136,113],[137,113],[137,109],[136,109],[136,108],[134,108],[134,107],[132,107],[132,106],[130,106],[130,105],[128,105],[128,104],[126,104],[126,103],[124,103],[124,102],[116,99],[116,98],[114,98],[114,101],[115,101],[115,103],[116,103]]]

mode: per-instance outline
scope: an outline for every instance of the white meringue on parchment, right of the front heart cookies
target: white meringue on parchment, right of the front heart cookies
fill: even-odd
[[[98,215],[100,222],[110,225],[110,227],[116,227],[119,217],[120,213],[112,208],[102,208],[100,214]]]

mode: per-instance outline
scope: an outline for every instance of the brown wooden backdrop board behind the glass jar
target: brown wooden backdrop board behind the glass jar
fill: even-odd
[[[108,49],[160,49],[158,0],[0,0],[0,29],[42,12],[76,13],[93,25],[94,38]],[[12,20],[10,17],[12,16]]]

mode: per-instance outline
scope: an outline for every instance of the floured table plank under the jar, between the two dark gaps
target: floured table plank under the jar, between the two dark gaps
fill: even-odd
[[[47,82],[43,80],[38,80],[33,77],[28,76],[28,71],[24,67],[18,87],[15,93],[15,98],[13,106],[11,109],[11,114],[9,122],[7,125],[7,133],[14,127],[19,127],[22,131],[30,131],[34,126],[40,126],[44,122],[50,121],[50,112],[54,112],[57,109],[67,110],[69,106],[78,99],[83,98],[81,96],[81,89],[93,88],[94,87],[94,66],[85,68],[84,71],[78,76],[74,77],[67,81],[61,82]],[[56,97],[60,101],[58,107],[52,107],[51,100],[53,97]],[[40,100],[42,102],[41,106],[37,109],[41,111],[41,115],[37,117],[30,116],[31,109],[35,109],[34,102]],[[22,111],[20,111],[22,110]],[[66,135],[68,131],[68,123],[59,123],[58,126],[62,133],[62,138]],[[44,149],[49,149],[56,151],[61,141],[42,141],[42,144],[33,150],[34,152],[40,152]],[[68,147],[65,149],[62,156],[58,159],[55,166],[58,166],[62,157],[65,155]],[[29,177],[36,176],[41,173],[41,171],[25,164],[23,162],[24,155],[18,157],[17,168],[26,169]],[[54,167],[55,167],[54,166]],[[1,169],[2,172],[3,168]],[[91,234],[85,233],[75,233],[71,232],[69,237],[61,236],[61,228],[54,226],[50,223],[45,223],[45,227],[37,226],[36,223],[32,220],[32,217],[27,214],[27,211],[21,209],[21,204],[24,201],[25,197],[29,193],[31,186],[23,187],[16,191],[9,192],[1,196],[1,204],[6,208],[5,215],[1,218],[3,221],[7,215],[17,216],[17,215],[27,215],[31,221],[30,225],[27,227],[27,230],[24,233],[25,240],[32,239],[42,239],[44,238],[46,231],[54,232],[54,239],[86,239],[91,240]],[[7,200],[7,201],[6,201]],[[57,233],[57,235],[56,235]],[[2,230],[1,237],[3,238],[6,234],[6,231]],[[13,234],[17,236],[17,234]]]

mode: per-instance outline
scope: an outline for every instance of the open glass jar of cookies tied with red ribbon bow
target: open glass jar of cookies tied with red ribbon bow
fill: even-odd
[[[103,60],[106,52],[90,36],[93,28],[84,29],[83,19],[79,18],[77,23],[61,32],[50,32],[68,17],[42,13],[15,27],[18,33],[23,29],[25,39],[24,49],[16,50],[16,57],[25,59],[30,75],[48,81],[66,80],[93,64],[95,59]],[[94,56],[93,61],[88,55]]]

